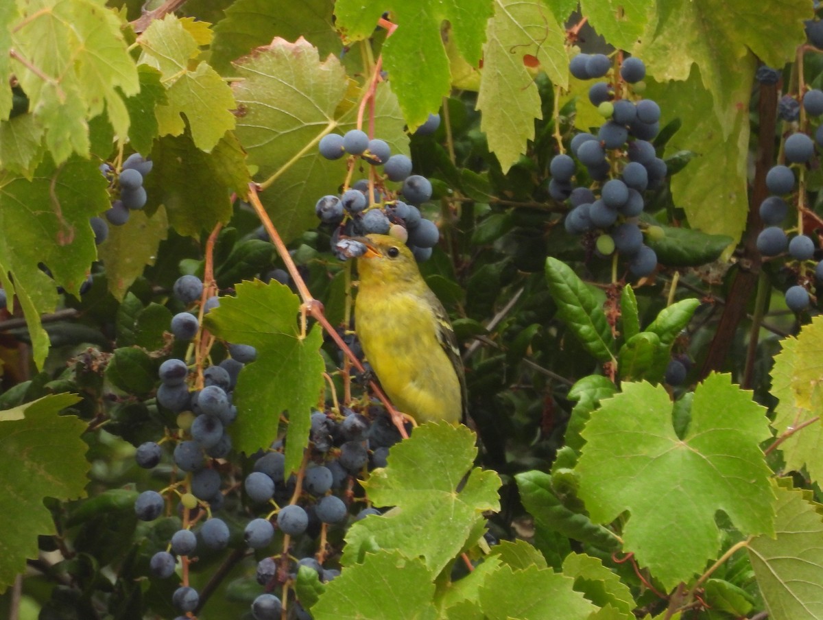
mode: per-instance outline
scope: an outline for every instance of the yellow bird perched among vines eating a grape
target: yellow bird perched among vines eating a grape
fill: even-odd
[[[366,359],[392,403],[417,422],[460,422],[466,382],[449,315],[410,249],[388,235],[357,238],[355,326]]]

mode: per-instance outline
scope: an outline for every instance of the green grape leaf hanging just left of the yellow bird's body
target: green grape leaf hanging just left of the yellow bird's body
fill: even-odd
[[[289,287],[273,281],[242,282],[235,297],[221,297],[220,307],[205,324],[217,338],[257,348],[256,361],[240,371],[234,403],[237,421],[231,438],[237,450],[251,455],[277,438],[286,413],[286,476],[300,468],[309,445],[311,408],[323,390],[323,333],[315,325],[300,334],[300,299]]]

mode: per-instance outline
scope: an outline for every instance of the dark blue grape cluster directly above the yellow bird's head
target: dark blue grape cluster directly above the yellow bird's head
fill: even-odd
[[[439,116],[432,115],[417,133],[433,132],[438,125]],[[348,154],[383,168],[383,174],[376,175],[376,179],[374,175],[371,180],[360,179],[351,188],[344,187],[342,193],[323,196],[317,201],[314,209],[317,217],[332,228],[332,251],[337,253],[337,241],[342,238],[379,233],[393,235],[406,243],[418,261],[431,256],[440,231],[435,222],[421,216],[418,207],[431,198],[432,187],[429,179],[412,175],[412,160],[408,156],[392,155],[386,142],[369,139],[360,129],[352,129],[343,136],[337,133],[323,136],[319,151],[329,160]],[[388,182],[402,185],[392,190]]]

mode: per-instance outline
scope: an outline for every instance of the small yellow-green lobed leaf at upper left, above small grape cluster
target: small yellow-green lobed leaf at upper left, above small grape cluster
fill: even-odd
[[[230,86],[207,63],[191,67],[200,54],[198,40],[172,14],[152,21],[138,41],[143,49],[140,63],[158,69],[166,86],[166,103],[155,109],[160,135],[179,136],[188,122],[195,146],[211,152],[235,128]]]

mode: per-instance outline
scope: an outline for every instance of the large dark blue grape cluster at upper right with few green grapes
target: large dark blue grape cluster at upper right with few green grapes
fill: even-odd
[[[606,77],[611,61],[603,54],[578,54],[571,59],[570,72],[585,80]],[[666,163],[649,142],[660,131],[659,106],[653,100],[620,96],[629,88],[635,94],[642,92],[645,75],[642,60],[626,58],[619,77],[593,84],[588,99],[606,122],[597,136],[575,135],[571,156],[562,153],[549,164],[551,198],[571,206],[566,231],[594,240],[600,256],[619,254],[634,277],[649,276],[657,267],[657,254],[644,244],[638,217],[644,209],[644,192],[657,188],[667,175]],[[645,231],[646,235],[662,233],[658,226]]]

